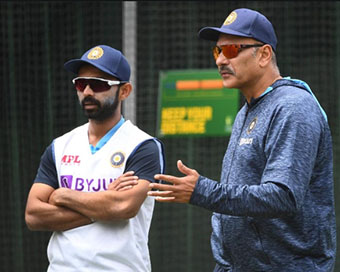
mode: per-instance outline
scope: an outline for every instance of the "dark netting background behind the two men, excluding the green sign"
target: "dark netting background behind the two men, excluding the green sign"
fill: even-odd
[[[124,105],[124,111],[156,135],[160,71],[215,68],[213,43],[199,40],[197,32],[203,26],[221,26],[241,7],[256,9],[271,20],[281,74],[306,81],[328,115],[340,230],[340,2],[1,1],[1,271],[39,272],[48,265],[51,233],[29,231],[24,210],[46,146],[86,122],[64,62],[98,44],[123,50],[135,67],[134,103]],[[240,107],[243,103],[241,97]],[[167,173],[180,175],[176,161],[182,159],[219,180],[228,137],[162,141]],[[149,239],[153,271],[212,271],[210,216],[190,205],[156,203]],[[340,271],[339,258],[335,271]]]

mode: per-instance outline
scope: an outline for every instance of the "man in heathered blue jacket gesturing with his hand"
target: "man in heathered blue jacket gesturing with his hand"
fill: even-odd
[[[156,175],[161,202],[213,211],[215,272],[333,271],[336,227],[331,132],[309,86],[283,78],[274,28],[249,9],[199,37],[213,50],[223,84],[246,98],[233,125],[220,182],[178,161],[184,177]]]

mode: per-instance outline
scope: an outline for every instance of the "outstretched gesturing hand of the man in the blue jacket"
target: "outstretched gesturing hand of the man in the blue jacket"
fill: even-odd
[[[200,175],[196,170],[186,167],[180,160],[177,161],[177,168],[186,176],[175,177],[157,174],[155,175],[155,179],[167,181],[172,183],[172,185],[150,183],[150,188],[161,191],[149,191],[148,195],[155,196],[159,202],[189,203]]]

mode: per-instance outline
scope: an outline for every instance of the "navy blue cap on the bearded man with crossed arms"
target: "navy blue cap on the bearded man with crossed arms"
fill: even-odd
[[[107,45],[97,45],[89,49],[80,59],[69,60],[64,64],[66,70],[75,74],[80,66],[88,63],[99,70],[112,75],[120,81],[128,82],[130,79],[130,65],[122,52]]]

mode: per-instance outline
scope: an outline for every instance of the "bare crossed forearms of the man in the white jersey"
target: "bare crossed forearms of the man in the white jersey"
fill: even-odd
[[[128,219],[135,216],[149,190],[147,180],[127,172],[107,191],[79,192],[33,184],[27,199],[25,220],[31,230],[63,231],[93,220]],[[127,190],[129,189],[129,190]]]

